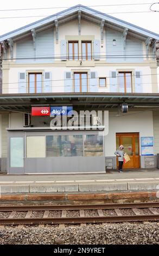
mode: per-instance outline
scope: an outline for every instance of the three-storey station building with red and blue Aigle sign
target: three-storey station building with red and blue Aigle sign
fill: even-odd
[[[124,168],[155,168],[158,40],[83,5],[1,35],[1,171],[101,173],[117,168],[119,144]],[[55,130],[53,109],[60,119],[63,109],[105,111],[108,121]]]

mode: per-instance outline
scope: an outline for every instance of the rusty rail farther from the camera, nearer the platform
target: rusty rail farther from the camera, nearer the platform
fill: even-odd
[[[94,210],[94,209],[132,209],[159,208],[159,202],[126,203],[126,204],[87,204],[87,205],[24,205],[0,206],[0,211],[54,211],[54,210]]]

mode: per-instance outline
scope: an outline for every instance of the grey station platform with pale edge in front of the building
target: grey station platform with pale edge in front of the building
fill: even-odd
[[[159,169],[97,174],[0,175],[1,193],[159,190]]]

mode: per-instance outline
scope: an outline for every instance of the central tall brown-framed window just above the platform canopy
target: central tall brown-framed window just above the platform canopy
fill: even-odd
[[[74,73],[74,92],[87,92],[87,73]]]

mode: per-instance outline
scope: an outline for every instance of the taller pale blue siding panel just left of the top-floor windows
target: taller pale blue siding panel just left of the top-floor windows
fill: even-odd
[[[36,57],[47,59],[36,59],[36,63],[54,62],[54,34],[53,28],[36,34]],[[50,58],[50,59],[48,59]]]

